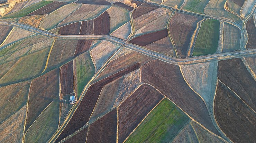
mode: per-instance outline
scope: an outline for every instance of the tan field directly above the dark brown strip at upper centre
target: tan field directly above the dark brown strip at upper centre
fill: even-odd
[[[157,8],[134,19],[134,35],[137,36],[166,28],[171,13],[172,11],[169,9]]]

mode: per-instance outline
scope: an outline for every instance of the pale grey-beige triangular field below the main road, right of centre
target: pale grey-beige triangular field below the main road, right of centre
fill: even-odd
[[[181,66],[185,80],[205,102],[210,102],[215,94],[217,65],[216,62],[207,62]]]

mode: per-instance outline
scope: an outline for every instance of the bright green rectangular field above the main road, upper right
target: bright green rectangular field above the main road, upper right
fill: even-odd
[[[205,20],[201,24],[198,37],[195,41],[193,56],[215,53],[218,47],[219,30],[220,22],[218,20]]]

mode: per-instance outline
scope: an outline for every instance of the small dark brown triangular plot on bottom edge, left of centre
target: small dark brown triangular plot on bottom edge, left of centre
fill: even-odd
[[[87,136],[88,128],[83,129],[79,133],[73,135],[63,143],[85,143],[86,142],[86,136]]]

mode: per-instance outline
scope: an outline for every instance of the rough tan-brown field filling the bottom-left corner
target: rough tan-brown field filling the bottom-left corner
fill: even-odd
[[[21,143],[27,106],[23,106],[13,116],[0,124],[1,143]]]

